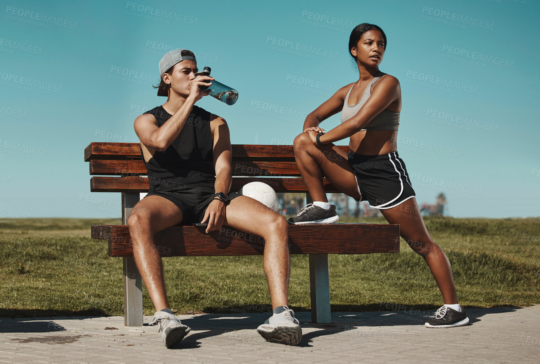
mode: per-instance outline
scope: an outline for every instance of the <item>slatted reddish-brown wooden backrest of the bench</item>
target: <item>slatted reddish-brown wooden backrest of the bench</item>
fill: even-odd
[[[348,146],[339,146],[348,152]],[[147,192],[146,167],[139,143],[92,142],[84,150],[84,160],[90,162],[92,192]],[[232,145],[232,187],[238,190],[246,183],[267,183],[277,193],[307,192],[294,161],[293,146]],[[103,177],[120,176],[120,177]],[[324,179],[327,192],[338,190]]]

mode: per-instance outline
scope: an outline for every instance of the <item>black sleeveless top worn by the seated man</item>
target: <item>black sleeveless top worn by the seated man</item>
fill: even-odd
[[[156,116],[161,127],[172,115],[163,106],[145,112]],[[144,161],[150,182],[150,190],[174,191],[186,187],[214,187],[215,170],[213,160],[210,113],[193,106],[180,134],[164,151],[156,150],[148,162]]]

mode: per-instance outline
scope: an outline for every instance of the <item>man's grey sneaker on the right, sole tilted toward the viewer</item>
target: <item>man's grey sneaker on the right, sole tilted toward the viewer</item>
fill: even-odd
[[[271,342],[286,345],[298,345],[302,339],[300,322],[294,318],[294,311],[287,306],[284,312],[274,313],[264,324],[257,327],[257,332]]]

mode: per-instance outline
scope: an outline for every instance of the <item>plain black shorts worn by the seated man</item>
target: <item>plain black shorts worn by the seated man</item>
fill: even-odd
[[[184,187],[178,190],[153,191],[148,196],[161,196],[178,206],[182,212],[181,225],[200,223],[203,221],[206,208],[210,205],[215,194],[214,186]],[[228,194],[227,202],[240,196],[237,192]]]

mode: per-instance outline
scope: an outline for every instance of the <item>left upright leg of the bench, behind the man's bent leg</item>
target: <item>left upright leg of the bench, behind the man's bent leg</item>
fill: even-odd
[[[122,223],[127,224],[139,193],[122,193]],[[143,279],[133,257],[124,257],[124,325],[143,326]]]

